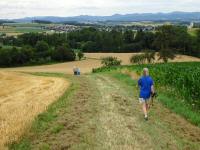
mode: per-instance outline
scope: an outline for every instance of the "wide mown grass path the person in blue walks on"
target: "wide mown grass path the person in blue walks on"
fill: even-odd
[[[150,120],[144,121],[135,81],[130,86],[126,78],[106,74],[72,79],[77,88],[64,99],[70,99],[67,107],[56,110],[45,131],[30,133],[29,149],[200,149],[200,128],[161,104],[156,103]]]

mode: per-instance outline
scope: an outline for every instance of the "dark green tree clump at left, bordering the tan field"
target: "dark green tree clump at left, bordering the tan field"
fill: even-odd
[[[38,41],[35,47],[31,47],[30,45],[22,47],[0,47],[1,67],[74,61],[75,59],[75,52],[67,44],[52,48],[49,47],[48,43]]]

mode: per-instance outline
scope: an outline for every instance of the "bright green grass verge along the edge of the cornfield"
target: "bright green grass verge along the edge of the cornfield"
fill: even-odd
[[[129,66],[128,69],[132,68],[133,66]],[[135,66],[134,66],[135,67]],[[127,68],[127,66],[120,67],[121,69]],[[120,72],[120,69],[116,67],[113,68],[102,68],[99,69],[98,72],[110,74],[112,77],[116,78],[117,80],[125,83],[132,88],[137,85],[137,81],[131,79],[129,75],[123,74]],[[171,89],[168,86],[161,87],[160,85],[157,86],[156,90],[158,92],[158,100],[167,108],[172,110],[173,112],[181,115],[185,119],[187,119],[192,124],[200,127],[200,113],[194,110],[190,105],[187,105],[183,102],[182,96],[178,93],[174,93],[173,90],[166,90]]]

